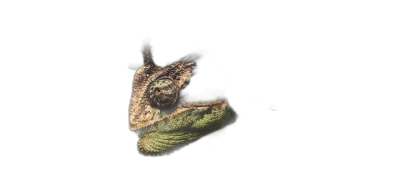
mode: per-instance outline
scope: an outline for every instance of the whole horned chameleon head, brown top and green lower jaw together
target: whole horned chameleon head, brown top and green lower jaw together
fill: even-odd
[[[138,134],[144,156],[167,156],[236,122],[237,114],[223,98],[197,101],[182,91],[195,74],[200,53],[162,67],[143,41],[143,65],[134,76],[129,106],[130,130]]]

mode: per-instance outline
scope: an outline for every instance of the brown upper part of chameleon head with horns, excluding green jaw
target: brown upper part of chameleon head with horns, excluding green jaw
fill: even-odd
[[[132,131],[140,130],[179,110],[182,90],[194,74],[200,54],[190,54],[167,67],[156,65],[152,49],[143,42],[143,65],[136,71],[129,106]]]

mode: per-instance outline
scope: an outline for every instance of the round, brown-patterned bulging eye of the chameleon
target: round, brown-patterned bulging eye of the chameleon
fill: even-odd
[[[154,81],[148,90],[151,106],[168,111],[178,102],[180,90],[171,78],[160,78]]]

